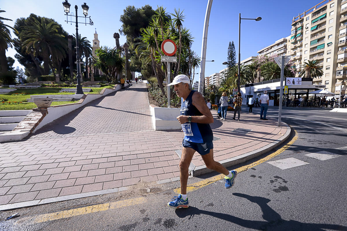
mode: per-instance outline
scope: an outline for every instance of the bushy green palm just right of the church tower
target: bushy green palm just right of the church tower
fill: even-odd
[[[95,54],[97,57],[94,66],[107,74],[107,76],[115,82],[118,72],[122,71],[125,63],[125,60],[119,57],[117,48],[102,46],[95,51]]]

